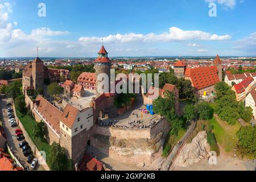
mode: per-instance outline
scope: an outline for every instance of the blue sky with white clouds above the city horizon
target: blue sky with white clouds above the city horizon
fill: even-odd
[[[38,16],[45,3],[46,17]],[[217,16],[210,17],[209,3]],[[256,55],[254,0],[0,0],[0,57]]]

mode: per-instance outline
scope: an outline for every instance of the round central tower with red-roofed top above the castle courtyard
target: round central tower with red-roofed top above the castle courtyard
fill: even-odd
[[[98,75],[101,73],[106,73],[108,75],[108,80],[104,80],[105,84],[109,84],[108,92],[110,92],[110,69],[111,69],[111,61],[108,57],[108,52],[105,47],[102,46],[100,51],[98,52],[98,57],[94,60],[95,69],[96,69],[96,98],[100,97],[102,93],[98,92],[98,85],[101,80],[98,80]],[[104,88],[102,88],[104,89]]]

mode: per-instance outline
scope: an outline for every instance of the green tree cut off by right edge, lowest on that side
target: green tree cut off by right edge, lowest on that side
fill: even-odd
[[[238,137],[238,152],[242,156],[246,156],[249,159],[256,158],[256,128],[249,127],[241,127],[240,131],[237,133]]]

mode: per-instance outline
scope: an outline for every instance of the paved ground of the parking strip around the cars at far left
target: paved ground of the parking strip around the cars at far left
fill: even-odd
[[[6,104],[10,102],[11,102],[11,99],[4,99],[0,101],[0,114],[3,121],[3,126],[5,128],[7,143],[9,144],[11,151],[13,151],[13,154],[16,156],[19,162],[23,165],[23,167],[26,168],[27,170],[31,170],[31,164],[27,163],[27,157],[23,155],[22,149],[19,148],[18,146],[19,143],[22,142],[23,140],[20,140],[20,141],[17,140],[15,130],[17,129],[20,130],[20,127],[19,126],[11,127],[9,123],[9,118],[7,117],[7,108],[11,107],[13,109],[13,106],[6,106]],[[33,152],[33,148],[31,148],[31,151]],[[35,168],[35,170],[42,170],[42,169],[43,168],[40,167],[39,164]]]

